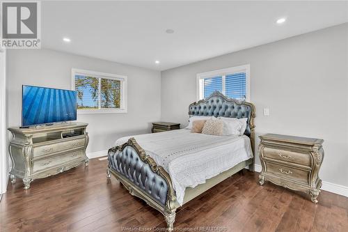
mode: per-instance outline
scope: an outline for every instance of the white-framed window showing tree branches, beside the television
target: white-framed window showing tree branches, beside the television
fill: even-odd
[[[127,113],[127,77],[72,69],[79,114]]]

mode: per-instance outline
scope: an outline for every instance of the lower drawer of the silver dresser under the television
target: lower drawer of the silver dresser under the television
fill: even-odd
[[[56,167],[61,164],[66,164],[67,162],[77,160],[84,158],[84,151],[83,150],[77,150],[72,153],[67,153],[63,155],[58,155],[55,157],[49,157],[42,160],[35,160],[33,161],[33,173],[36,173],[38,171],[46,170],[51,167]],[[82,159],[81,159],[82,160]]]

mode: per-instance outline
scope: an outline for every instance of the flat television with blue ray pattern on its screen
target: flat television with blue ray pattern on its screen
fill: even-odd
[[[76,91],[22,86],[22,126],[74,121],[76,117]]]

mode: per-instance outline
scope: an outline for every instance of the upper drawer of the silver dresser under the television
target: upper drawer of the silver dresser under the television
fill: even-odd
[[[49,155],[51,153],[56,153],[62,150],[67,150],[71,148],[78,148],[84,146],[86,142],[85,138],[74,139],[73,141],[62,141],[56,144],[49,144],[45,146],[35,146],[33,147],[33,158],[40,157],[42,155]]]

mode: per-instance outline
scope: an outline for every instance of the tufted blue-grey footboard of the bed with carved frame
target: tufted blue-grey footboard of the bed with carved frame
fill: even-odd
[[[171,178],[163,167],[145,155],[134,138],[109,149],[108,161],[108,178],[112,173],[130,194],[159,210],[166,219],[168,231],[173,231],[177,202]]]

